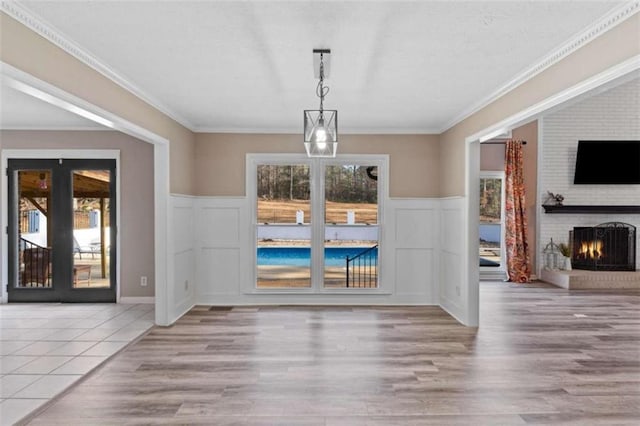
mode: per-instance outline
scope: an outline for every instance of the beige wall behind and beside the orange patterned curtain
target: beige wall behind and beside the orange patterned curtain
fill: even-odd
[[[513,129],[514,139],[527,141],[524,145],[524,191],[527,212],[527,238],[529,241],[529,257],[531,270],[535,271],[536,248],[536,214],[538,198],[538,121]],[[480,144],[480,170],[504,171],[505,145]]]

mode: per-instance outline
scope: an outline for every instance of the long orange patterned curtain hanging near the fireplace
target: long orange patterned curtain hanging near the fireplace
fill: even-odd
[[[505,152],[505,245],[509,281],[529,282],[531,267],[524,203],[522,141],[507,141]]]

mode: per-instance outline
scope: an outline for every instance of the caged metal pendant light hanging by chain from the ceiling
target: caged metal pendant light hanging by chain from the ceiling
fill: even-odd
[[[329,93],[324,79],[329,74],[330,55],[329,49],[313,50],[314,69],[320,79],[316,86],[320,109],[304,110],[304,147],[309,157],[335,157],[338,151],[338,111],[324,109],[324,97]]]

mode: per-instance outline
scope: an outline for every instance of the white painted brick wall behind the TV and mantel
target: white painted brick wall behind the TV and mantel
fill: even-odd
[[[547,191],[564,196],[565,205],[640,205],[640,185],[574,185],[579,140],[640,140],[640,79],[579,101],[542,120],[539,176],[540,204]],[[640,215],[540,213],[540,252],[550,238],[568,242],[574,226],[630,223],[640,231]],[[636,234],[636,269],[640,235]],[[542,257],[539,256],[538,270]]]

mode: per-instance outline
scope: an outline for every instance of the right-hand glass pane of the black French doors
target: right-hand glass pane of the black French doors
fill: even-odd
[[[110,287],[111,172],[73,170],[73,288]]]

